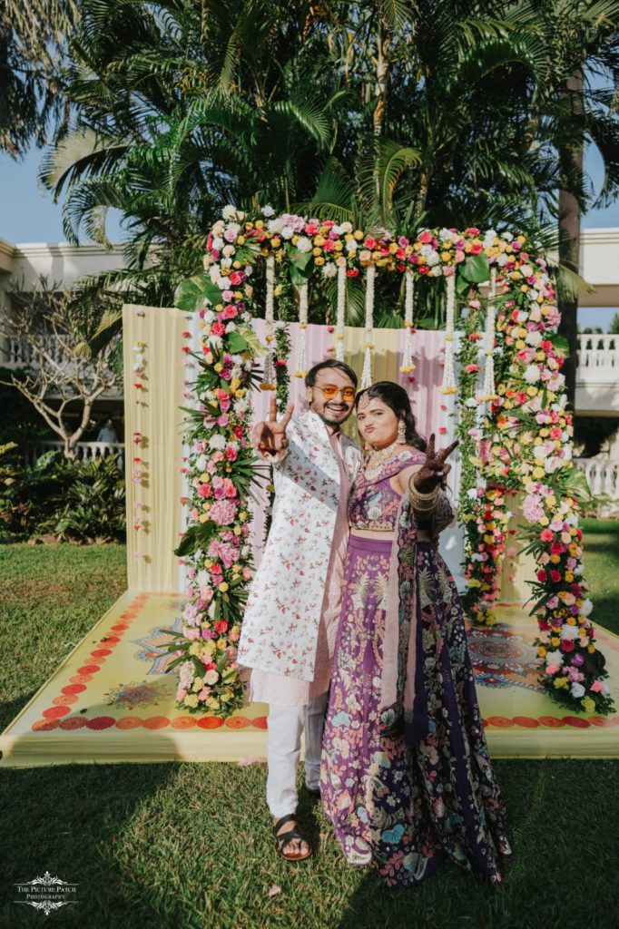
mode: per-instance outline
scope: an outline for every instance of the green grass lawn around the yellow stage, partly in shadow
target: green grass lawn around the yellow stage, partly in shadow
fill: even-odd
[[[586,522],[595,616],[617,628],[619,524]],[[3,723],[123,590],[121,546],[0,546]],[[614,610],[613,610],[614,605]],[[494,888],[445,865],[415,891],[352,870],[319,802],[299,818],[317,854],[276,857],[265,765],[71,765],[2,772],[0,926],[39,926],[12,882],[78,883],[49,924],[93,929],[609,929],[619,883],[619,763],[497,761],[515,859]],[[299,784],[301,772],[299,772]],[[8,853],[8,854],[7,854]],[[269,896],[276,884],[281,893]]]

